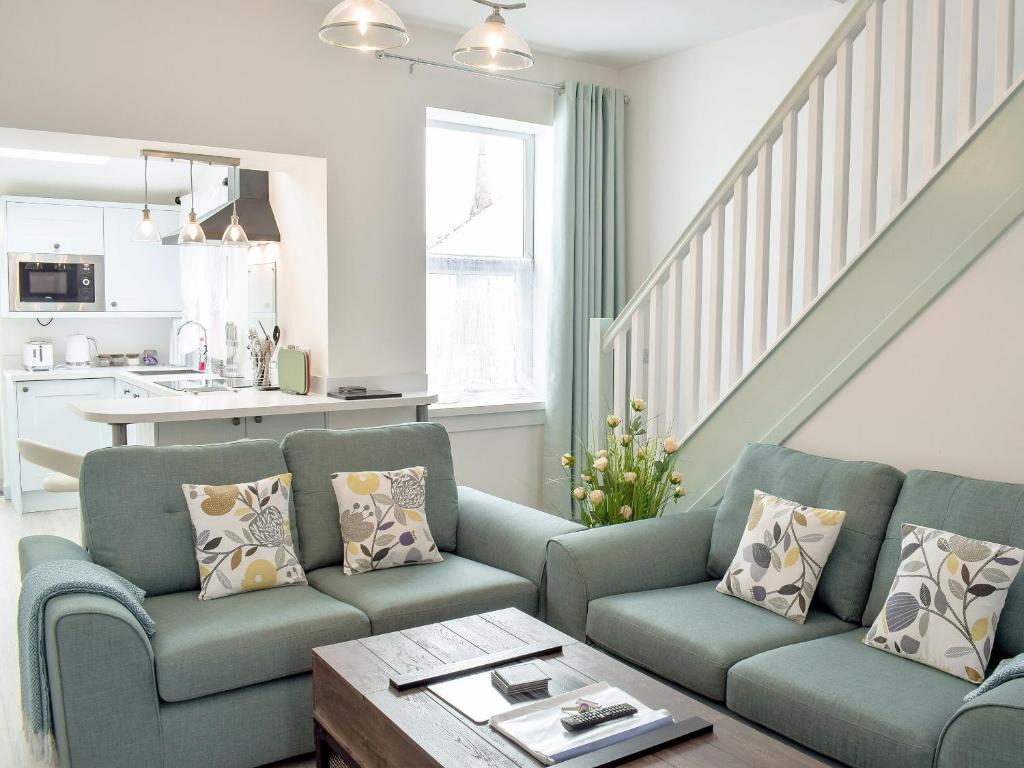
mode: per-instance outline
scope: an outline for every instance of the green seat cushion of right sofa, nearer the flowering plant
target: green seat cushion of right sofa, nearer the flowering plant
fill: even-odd
[[[587,637],[615,655],[723,701],[726,675],[737,662],[851,628],[814,608],[799,625],[722,595],[715,586],[703,582],[594,600]]]

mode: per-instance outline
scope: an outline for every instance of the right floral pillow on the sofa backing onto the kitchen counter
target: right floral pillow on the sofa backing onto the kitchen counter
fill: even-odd
[[[346,575],[441,561],[427,525],[425,467],[337,472],[331,482]]]

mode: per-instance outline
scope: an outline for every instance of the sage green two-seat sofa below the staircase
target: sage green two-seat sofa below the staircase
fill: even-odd
[[[804,625],[722,595],[755,488],[847,510]],[[1024,765],[1024,680],[975,686],[862,643],[914,523],[1024,546],[1024,485],[749,445],[715,509],[556,537],[548,621],[857,768]],[[992,664],[1024,652],[1024,580]]]

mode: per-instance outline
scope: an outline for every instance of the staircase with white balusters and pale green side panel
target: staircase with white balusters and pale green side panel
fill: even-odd
[[[684,437],[688,504],[715,501],[744,442],[783,441],[1024,214],[1017,4],[858,0],[622,314],[592,322],[590,424],[645,397]]]

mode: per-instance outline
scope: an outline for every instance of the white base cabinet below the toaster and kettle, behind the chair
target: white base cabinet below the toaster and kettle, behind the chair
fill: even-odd
[[[114,379],[23,381],[16,384],[17,436],[87,454],[111,444],[111,428],[80,419],[68,408],[76,400],[114,397]],[[50,470],[19,459],[22,493],[42,490]]]

